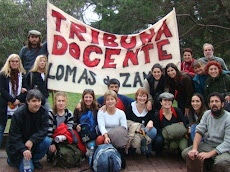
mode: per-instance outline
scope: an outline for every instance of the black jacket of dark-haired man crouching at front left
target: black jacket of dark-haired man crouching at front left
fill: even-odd
[[[43,107],[36,113],[30,112],[27,104],[16,110],[6,144],[8,158],[13,164],[20,164],[23,152],[27,150],[25,143],[28,140],[33,142],[33,147],[44,140],[49,127],[48,118],[48,112]]]

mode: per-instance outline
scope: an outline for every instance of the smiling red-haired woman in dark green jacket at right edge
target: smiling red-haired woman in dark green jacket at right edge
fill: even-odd
[[[205,71],[208,74],[204,88],[205,101],[207,101],[208,95],[213,92],[222,93],[225,100],[230,100],[230,96],[228,96],[230,93],[230,76],[223,72],[220,63],[208,62]]]

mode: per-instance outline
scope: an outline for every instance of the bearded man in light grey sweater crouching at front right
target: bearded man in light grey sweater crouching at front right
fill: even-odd
[[[224,97],[217,92],[208,98],[206,111],[196,127],[193,145],[182,152],[184,159],[211,162],[214,171],[230,171],[230,113],[224,110]],[[201,142],[202,137],[204,141]],[[210,167],[210,166],[209,166]]]

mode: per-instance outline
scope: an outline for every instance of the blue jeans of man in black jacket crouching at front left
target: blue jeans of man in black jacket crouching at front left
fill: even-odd
[[[35,146],[32,149],[32,159],[30,160],[32,171],[34,170],[33,162],[38,162],[40,159],[42,159],[45,156],[46,152],[50,147],[51,142],[52,142],[51,139],[46,136],[41,143],[39,143],[37,146]],[[21,163],[19,165],[19,171],[20,172],[24,171],[23,159],[21,160]]]

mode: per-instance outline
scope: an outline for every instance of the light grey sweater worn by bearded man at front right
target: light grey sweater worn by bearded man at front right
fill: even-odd
[[[215,147],[218,154],[230,153],[230,113],[225,111],[217,118],[211,110],[204,113],[196,132],[204,136],[204,142]],[[206,134],[206,132],[208,134]]]

